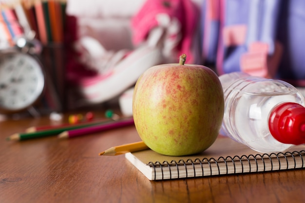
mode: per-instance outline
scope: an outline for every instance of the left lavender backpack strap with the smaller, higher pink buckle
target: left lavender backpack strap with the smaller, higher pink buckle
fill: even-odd
[[[248,4],[248,0],[220,0],[220,37],[216,60],[218,74],[240,71],[240,55],[247,51]]]

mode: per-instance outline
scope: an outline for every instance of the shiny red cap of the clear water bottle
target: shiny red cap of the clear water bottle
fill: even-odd
[[[305,108],[300,104],[279,104],[272,110],[268,125],[271,135],[281,143],[305,143]]]

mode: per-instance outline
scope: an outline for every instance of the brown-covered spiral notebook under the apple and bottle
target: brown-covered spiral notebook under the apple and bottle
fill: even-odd
[[[219,136],[210,148],[192,156],[165,156],[148,149],[125,157],[149,180],[167,180],[304,168],[305,146],[267,154]]]

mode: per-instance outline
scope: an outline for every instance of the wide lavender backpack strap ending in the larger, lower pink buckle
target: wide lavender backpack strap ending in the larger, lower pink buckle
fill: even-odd
[[[251,0],[246,39],[247,52],[241,55],[241,71],[275,77],[283,53],[276,39],[282,0]]]

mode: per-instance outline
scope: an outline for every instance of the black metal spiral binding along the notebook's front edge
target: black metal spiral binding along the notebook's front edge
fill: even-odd
[[[175,160],[172,160],[171,162],[164,161],[164,162],[149,162],[149,166],[153,168],[154,171],[154,180],[156,180],[156,168],[161,169],[162,173],[162,180],[164,179],[164,168],[168,168],[170,178],[173,179],[172,174],[173,171],[177,173],[178,179],[179,178],[190,178],[190,177],[203,177],[203,176],[211,176],[213,172],[217,171],[218,174],[213,174],[213,175],[228,175],[228,174],[236,174],[236,173],[251,173],[251,172],[265,172],[266,171],[266,163],[268,161],[268,165],[270,165],[270,168],[267,171],[275,171],[275,170],[288,170],[288,169],[295,169],[295,168],[303,168],[304,166],[304,158],[305,156],[305,150],[302,151],[293,151],[293,152],[279,152],[279,153],[271,153],[271,154],[250,154],[250,155],[242,155],[242,156],[227,156],[226,158],[224,157],[219,157],[217,160],[214,158],[204,158],[200,160],[199,158],[195,160],[188,159],[187,161],[184,161],[183,159],[180,159],[178,162]],[[301,161],[301,166],[297,167],[297,162],[296,162],[296,157],[300,157]],[[290,158],[290,162],[288,160]],[[283,159],[286,161],[286,168],[282,168],[281,164],[283,164]],[[291,159],[292,163],[294,166],[291,167]],[[281,162],[282,160],[282,162]],[[285,163],[284,161],[284,163]],[[234,169],[233,173],[229,173],[229,167],[228,164],[232,163],[232,168]],[[221,172],[220,164],[225,164],[225,171],[226,172]],[[238,166],[241,167],[241,171],[237,171],[237,164]],[[277,164],[276,168],[274,168],[275,164]],[[180,167],[179,167],[180,166]],[[181,168],[183,166],[183,168]],[[193,170],[193,174],[189,176],[188,171],[190,172],[190,167],[191,170]],[[200,166],[199,169],[201,171],[201,174],[196,174],[195,166]],[[210,168],[210,171],[208,171],[208,174],[205,174],[204,166],[208,166]],[[212,169],[213,167],[216,166],[216,170]],[[247,167],[248,171],[245,171],[245,167]],[[263,166],[262,170],[259,170],[259,166]],[[285,165],[284,165],[285,166]],[[290,166],[290,168],[289,168]],[[252,170],[254,168],[254,170]],[[179,174],[179,171],[182,171],[186,173],[186,177],[181,177]],[[198,171],[197,171],[198,172]]]

